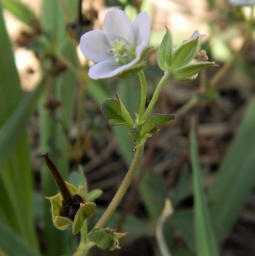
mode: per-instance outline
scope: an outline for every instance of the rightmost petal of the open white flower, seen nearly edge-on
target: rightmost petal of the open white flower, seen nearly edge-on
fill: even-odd
[[[133,23],[136,40],[136,56],[140,56],[150,40],[150,17],[147,11],[139,13]]]

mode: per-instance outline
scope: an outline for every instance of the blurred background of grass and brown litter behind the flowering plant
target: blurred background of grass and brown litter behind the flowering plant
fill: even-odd
[[[44,198],[55,195],[57,187],[43,152],[66,180],[86,179],[89,190],[103,191],[90,228],[129,168],[135,144],[126,127],[108,125],[100,105],[119,94],[135,118],[138,75],[91,80],[92,63],[78,49],[80,36],[102,29],[105,13],[113,8],[131,20],[149,12],[153,49],[144,69],[147,102],[163,76],[157,49],[164,26],[175,45],[195,30],[205,34],[201,49],[220,66],[191,82],[166,82],[154,112],[174,114],[175,120],[147,140],[135,181],[107,225],[129,234],[120,250],[94,247],[88,255],[162,255],[155,230],[166,198],[174,208],[163,224],[169,255],[201,255],[191,120],[218,255],[255,255],[253,6],[217,0],[1,0],[0,7],[0,255],[72,255],[78,246],[79,235],[52,224]]]

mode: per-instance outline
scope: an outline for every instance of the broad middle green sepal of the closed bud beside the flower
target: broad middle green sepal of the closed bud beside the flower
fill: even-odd
[[[173,52],[173,62],[171,71],[188,64],[195,56],[198,49],[198,38],[182,43],[175,52]]]

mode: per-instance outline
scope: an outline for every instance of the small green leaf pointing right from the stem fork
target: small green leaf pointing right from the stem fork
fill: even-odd
[[[156,132],[157,126],[173,120],[174,118],[175,117],[170,114],[152,114],[143,123],[140,137],[142,138],[146,133],[152,134]]]

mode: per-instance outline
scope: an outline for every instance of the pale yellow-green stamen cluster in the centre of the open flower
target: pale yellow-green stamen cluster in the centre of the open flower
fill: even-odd
[[[135,59],[135,47],[125,40],[115,38],[110,42],[110,47],[106,52],[111,54],[120,65],[127,64]]]

